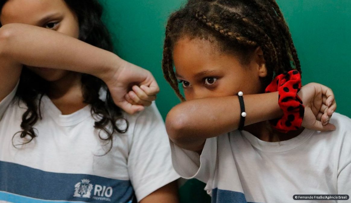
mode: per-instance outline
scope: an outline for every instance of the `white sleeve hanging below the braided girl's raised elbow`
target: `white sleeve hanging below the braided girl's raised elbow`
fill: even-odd
[[[172,162],[177,173],[186,179],[196,178],[208,184],[216,170],[218,137],[206,139],[201,155],[170,142]]]

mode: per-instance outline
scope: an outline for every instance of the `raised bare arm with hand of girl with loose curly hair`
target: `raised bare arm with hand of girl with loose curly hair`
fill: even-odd
[[[65,69],[99,77],[108,85],[115,103],[128,113],[133,113],[136,109],[125,106],[127,102],[123,97],[128,88],[125,84],[117,84],[119,81],[158,88],[150,72],[124,61],[112,52],[58,31],[20,23],[0,28],[0,61],[0,80],[6,81],[0,86],[0,101],[18,81],[22,64]],[[157,88],[155,92],[158,92]],[[118,95],[121,93],[124,94]]]

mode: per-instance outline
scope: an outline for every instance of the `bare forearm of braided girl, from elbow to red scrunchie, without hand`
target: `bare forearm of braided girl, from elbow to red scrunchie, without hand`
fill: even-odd
[[[245,125],[282,116],[278,92],[244,95]],[[179,147],[201,151],[207,138],[236,130],[240,123],[237,96],[211,97],[183,102],[167,114],[166,129]]]

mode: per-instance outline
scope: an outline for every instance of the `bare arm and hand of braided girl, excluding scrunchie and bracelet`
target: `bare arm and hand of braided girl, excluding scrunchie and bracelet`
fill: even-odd
[[[305,106],[302,127],[335,130],[329,123],[336,110],[333,91],[318,83],[309,83],[298,95]],[[283,115],[278,105],[278,92],[244,95],[245,125]],[[237,96],[194,99],[175,106],[167,115],[166,129],[170,139],[179,147],[201,152],[207,138],[236,130],[240,123]]]

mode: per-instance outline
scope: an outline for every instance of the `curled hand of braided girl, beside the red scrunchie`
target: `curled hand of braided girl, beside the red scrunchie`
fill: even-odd
[[[318,83],[309,83],[297,94],[305,106],[302,127],[317,131],[335,130],[335,126],[329,123],[336,110],[334,93],[330,88]]]

